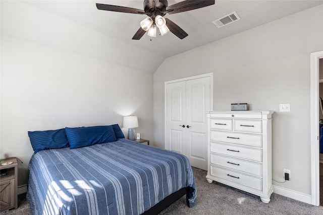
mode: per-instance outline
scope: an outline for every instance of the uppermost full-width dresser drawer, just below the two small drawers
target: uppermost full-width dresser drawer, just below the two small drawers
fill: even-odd
[[[252,147],[262,147],[261,134],[235,133],[226,131],[210,131],[210,139],[214,141],[230,142]]]

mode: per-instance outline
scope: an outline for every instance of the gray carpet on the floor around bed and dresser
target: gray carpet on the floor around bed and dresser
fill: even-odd
[[[213,182],[207,183],[206,171],[193,168],[197,184],[197,202],[187,207],[185,196],[166,208],[160,215],[167,214],[323,214],[322,206],[313,206],[278,194],[263,203],[258,196],[244,193],[232,187]],[[18,209],[1,215],[30,215],[26,194],[18,196]]]

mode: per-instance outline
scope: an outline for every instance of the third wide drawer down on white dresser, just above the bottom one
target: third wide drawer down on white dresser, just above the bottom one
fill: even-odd
[[[221,155],[210,155],[210,163],[216,164],[218,166],[230,168],[233,170],[238,170],[241,172],[246,172],[252,175],[260,176],[262,175],[262,164],[244,161],[236,158],[221,156]]]

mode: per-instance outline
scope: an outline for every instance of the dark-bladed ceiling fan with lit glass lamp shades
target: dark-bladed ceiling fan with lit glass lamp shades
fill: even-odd
[[[178,38],[183,39],[188,34],[170,19],[165,19],[164,16],[166,14],[177,14],[210,5],[214,5],[214,0],[186,0],[171,6],[168,6],[167,0],[144,0],[144,10],[98,3],[96,3],[96,8],[104,11],[147,15],[148,17],[140,22],[140,28],[133,36],[133,40],[139,40],[146,31],[148,31],[148,36],[156,37],[156,27],[159,29],[161,36],[171,31]]]

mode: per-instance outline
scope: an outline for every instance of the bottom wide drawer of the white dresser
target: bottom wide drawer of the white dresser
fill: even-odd
[[[223,169],[220,167],[210,166],[211,175],[223,178],[228,181],[233,181],[237,184],[241,184],[247,187],[251,187],[256,190],[262,190],[262,180],[261,178],[253,177],[243,173],[235,172],[228,169]]]

